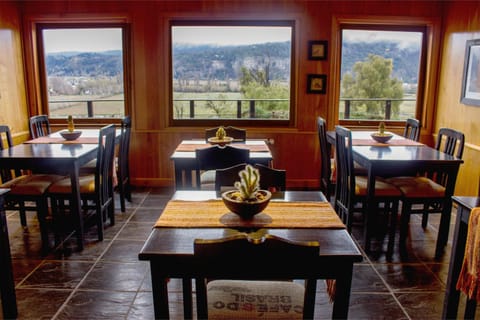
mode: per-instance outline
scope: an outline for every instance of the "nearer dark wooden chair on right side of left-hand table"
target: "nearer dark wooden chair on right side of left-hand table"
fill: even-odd
[[[84,174],[79,178],[80,195],[82,198],[85,216],[94,216],[97,225],[98,240],[103,240],[103,221],[108,216],[110,225],[115,223],[114,201],[112,187],[112,169],[115,149],[115,125],[108,125],[100,129],[98,136],[97,165],[95,174]],[[52,200],[52,214],[56,226],[57,242],[69,224],[67,201],[71,203],[72,187],[70,177],[53,183],[48,189]],[[87,205],[93,202],[93,205]],[[93,210],[93,213],[90,212]],[[77,235],[80,230],[75,230]],[[67,231],[68,232],[68,231]]]

